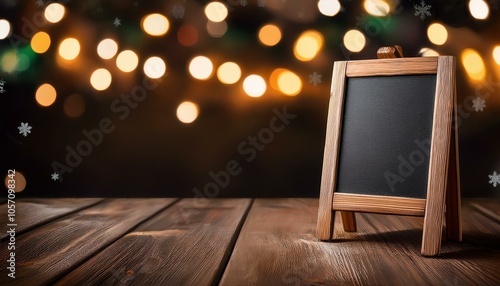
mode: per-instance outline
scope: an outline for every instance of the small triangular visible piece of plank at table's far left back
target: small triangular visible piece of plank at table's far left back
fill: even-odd
[[[103,199],[17,199],[15,200],[17,223],[16,235],[20,235],[42,224],[99,203]],[[0,225],[7,223],[7,204],[0,206]],[[0,232],[0,240],[7,237],[6,229]]]

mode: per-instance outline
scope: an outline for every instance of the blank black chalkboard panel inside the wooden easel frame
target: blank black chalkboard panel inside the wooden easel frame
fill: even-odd
[[[335,192],[426,198],[436,75],[346,79]]]

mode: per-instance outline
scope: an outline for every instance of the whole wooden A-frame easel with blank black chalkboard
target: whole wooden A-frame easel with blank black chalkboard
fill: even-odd
[[[387,57],[387,56],[385,56]],[[461,240],[455,58],[339,61],[333,68],[316,235],[355,212],[424,217],[421,254]]]

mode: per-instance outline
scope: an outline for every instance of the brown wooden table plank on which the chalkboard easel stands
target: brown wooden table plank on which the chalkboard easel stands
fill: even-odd
[[[500,204],[497,205],[500,207]],[[423,218],[357,213],[357,233],[335,220],[334,242],[315,230],[315,199],[257,199],[220,285],[498,285],[500,228],[464,208],[464,241],[420,255]]]

